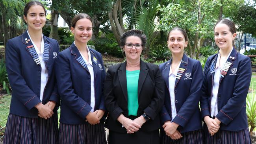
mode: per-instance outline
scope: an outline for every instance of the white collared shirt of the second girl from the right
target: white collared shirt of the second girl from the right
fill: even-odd
[[[181,61],[180,61],[181,63]],[[169,71],[169,94],[171,98],[171,108],[172,108],[172,121],[174,117],[177,115],[176,113],[176,105],[175,105],[175,94],[174,94],[174,87],[175,87],[175,80],[177,76],[178,69],[180,67],[180,63],[175,69],[175,71],[172,71],[172,64],[170,64],[170,71]]]

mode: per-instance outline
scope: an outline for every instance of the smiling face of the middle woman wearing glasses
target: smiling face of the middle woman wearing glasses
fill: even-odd
[[[137,36],[129,36],[126,38],[126,44],[142,44],[141,38]],[[123,50],[125,52],[126,60],[139,60],[141,56],[141,52],[143,50],[143,47],[140,49],[136,49],[135,46],[132,46],[132,48],[127,48],[126,45],[124,45]]]

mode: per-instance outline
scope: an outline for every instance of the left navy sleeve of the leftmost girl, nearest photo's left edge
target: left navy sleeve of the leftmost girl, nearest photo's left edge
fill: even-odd
[[[20,52],[12,40],[6,44],[6,70],[13,92],[26,108],[32,109],[41,102],[39,97],[28,87],[22,76]]]

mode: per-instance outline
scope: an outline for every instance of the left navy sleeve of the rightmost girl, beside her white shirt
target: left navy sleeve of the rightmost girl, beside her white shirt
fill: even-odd
[[[203,71],[203,83],[202,83],[202,92],[200,98],[200,109],[201,109],[201,116],[202,120],[204,120],[205,116],[210,116],[210,109],[208,103],[208,81],[207,81],[207,70],[210,64],[210,59],[208,58]]]

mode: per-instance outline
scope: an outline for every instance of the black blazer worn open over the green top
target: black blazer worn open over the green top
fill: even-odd
[[[164,80],[157,65],[142,60],[140,65],[137,116],[128,116],[126,62],[108,69],[104,95],[109,115],[105,126],[111,131],[126,133],[126,129],[117,121],[121,113],[132,120],[146,113],[150,120],[145,122],[139,131],[154,131],[160,128],[159,111],[164,100]]]

